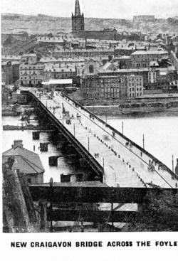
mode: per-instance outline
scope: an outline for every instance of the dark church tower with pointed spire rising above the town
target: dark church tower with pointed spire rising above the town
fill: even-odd
[[[80,14],[80,4],[78,0],[75,0],[75,14],[72,13],[72,30],[73,33],[78,31],[84,31],[84,15]]]

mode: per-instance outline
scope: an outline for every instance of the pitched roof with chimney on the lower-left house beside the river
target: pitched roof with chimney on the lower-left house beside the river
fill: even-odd
[[[45,171],[38,154],[24,149],[22,144],[13,146],[2,156],[3,162],[6,162],[9,156],[14,156],[12,169],[19,169],[23,174],[39,174]]]

